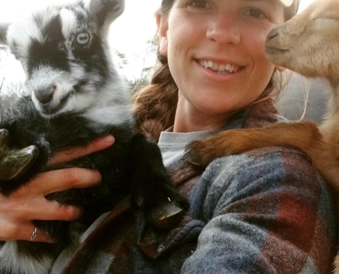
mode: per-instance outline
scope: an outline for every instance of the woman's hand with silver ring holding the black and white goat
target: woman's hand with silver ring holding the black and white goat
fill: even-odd
[[[112,136],[105,136],[93,141],[88,147],[79,147],[55,154],[50,164],[68,162],[110,147],[114,143]],[[49,201],[45,196],[69,188],[87,188],[100,184],[98,171],[71,168],[41,173],[28,184],[18,188],[9,197],[0,195],[0,240],[29,240],[35,229],[33,220],[78,219],[81,208],[62,206],[56,201]],[[37,230],[34,242],[53,242],[41,230]]]

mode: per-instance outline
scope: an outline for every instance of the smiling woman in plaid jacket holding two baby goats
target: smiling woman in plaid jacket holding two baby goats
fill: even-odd
[[[152,84],[136,95],[136,114],[140,129],[153,138],[166,129],[159,145],[190,211],[170,232],[159,231],[140,222],[138,212],[122,201],[88,229],[81,247],[60,255],[51,273],[330,271],[333,205],[305,155],[259,149],[214,160],[205,171],[181,160],[191,140],[279,119],[270,97],[280,68],[266,60],[264,42],[296,7],[292,0],[162,1],[156,14],[161,66]],[[103,138],[53,161],[112,142]],[[81,210],[60,208],[44,195],[99,181],[95,171],[50,171],[8,199],[1,197],[0,238],[29,240],[32,219],[76,219]],[[40,231],[34,240],[51,241]]]

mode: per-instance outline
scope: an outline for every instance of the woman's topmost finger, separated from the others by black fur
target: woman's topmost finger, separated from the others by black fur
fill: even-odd
[[[88,145],[88,147],[77,147],[75,149],[68,149],[56,153],[49,161],[49,164],[60,164],[62,162],[68,162],[77,159],[81,156],[88,155],[90,153],[106,149],[113,145],[114,137],[112,135],[97,138]]]

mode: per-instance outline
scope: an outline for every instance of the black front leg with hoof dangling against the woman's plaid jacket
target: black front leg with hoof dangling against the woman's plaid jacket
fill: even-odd
[[[158,145],[137,134],[132,140],[132,153],[136,165],[132,201],[152,225],[164,229],[173,227],[186,214],[189,203],[173,186]]]

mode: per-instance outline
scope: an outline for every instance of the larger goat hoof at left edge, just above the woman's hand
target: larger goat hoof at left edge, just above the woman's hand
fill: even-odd
[[[21,177],[32,166],[38,153],[39,149],[34,145],[10,151],[0,160],[0,180],[10,181]]]

